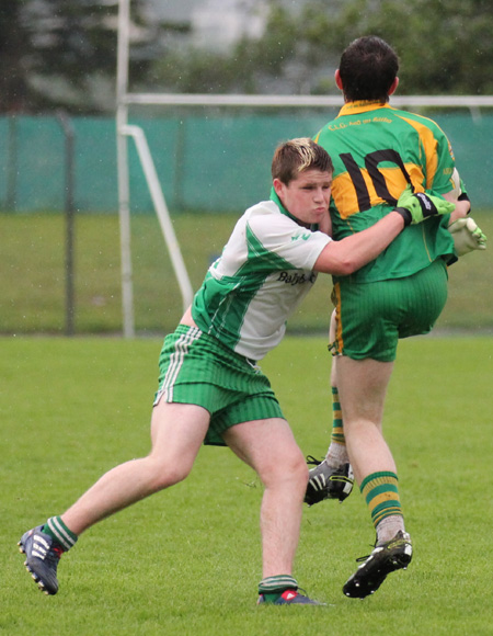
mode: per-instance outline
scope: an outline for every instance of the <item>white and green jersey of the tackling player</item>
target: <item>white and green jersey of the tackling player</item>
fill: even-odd
[[[196,323],[237,353],[261,360],[280,342],[331,240],[298,225],[273,201],[249,208],[195,296]]]

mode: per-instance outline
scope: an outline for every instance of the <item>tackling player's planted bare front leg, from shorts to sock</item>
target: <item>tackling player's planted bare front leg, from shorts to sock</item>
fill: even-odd
[[[228,430],[225,441],[259,474],[265,487],[261,508],[263,577],[293,573],[308,469],[288,423],[270,419],[238,424]]]

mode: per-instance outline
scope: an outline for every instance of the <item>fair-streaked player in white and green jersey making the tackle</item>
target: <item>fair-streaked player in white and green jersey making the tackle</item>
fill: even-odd
[[[325,150],[311,139],[287,141],[274,155],[272,174],[271,198],[239,219],[192,307],[164,340],[149,455],[113,468],[64,514],[22,536],[25,565],[48,594],[58,591],[60,555],[83,531],[183,480],[205,442],[228,445],[264,485],[259,601],[317,604],[298,592],[293,576],[308,470],[256,362],[280,341],[318,272],[356,271],[428,212],[404,193],[401,207],[372,228],[333,241]],[[435,204],[439,214],[454,208],[444,200]]]

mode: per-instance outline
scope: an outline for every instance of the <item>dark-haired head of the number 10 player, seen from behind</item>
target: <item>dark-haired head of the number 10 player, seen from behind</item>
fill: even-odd
[[[349,44],[341,56],[339,72],[346,101],[389,100],[399,71],[399,58],[381,37],[367,35]]]

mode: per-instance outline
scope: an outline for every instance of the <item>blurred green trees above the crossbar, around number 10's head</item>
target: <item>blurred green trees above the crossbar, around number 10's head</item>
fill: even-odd
[[[259,1],[268,5],[262,37],[244,37],[226,54],[193,47],[170,54],[154,68],[161,87],[337,94],[333,75],[342,50],[372,34],[400,56],[400,94],[493,92],[491,0]]]

